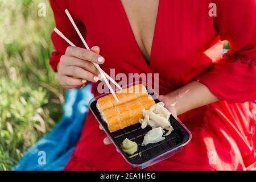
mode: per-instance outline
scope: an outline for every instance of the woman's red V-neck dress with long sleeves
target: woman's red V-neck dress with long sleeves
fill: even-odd
[[[208,86],[220,101],[179,116],[192,132],[183,150],[146,169],[245,170],[256,168],[256,1],[160,0],[150,65],[143,59],[119,0],[50,1],[56,26],[82,46],[64,13],[68,9],[90,47],[99,46],[115,73],[159,73],[159,92],[167,94],[190,81]],[[209,16],[209,3],[217,16]],[[231,50],[221,56],[223,43]],[[56,70],[68,44],[54,32]],[[97,95],[97,84],[92,92]],[[131,170],[89,112],[66,170]]]

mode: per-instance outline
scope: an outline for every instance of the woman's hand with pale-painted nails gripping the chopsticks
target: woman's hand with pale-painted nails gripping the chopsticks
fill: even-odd
[[[94,46],[89,50],[68,47],[57,65],[57,78],[66,89],[80,88],[86,82],[101,80],[100,72],[93,63],[103,64],[104,57],[99,55],[100,48]]]

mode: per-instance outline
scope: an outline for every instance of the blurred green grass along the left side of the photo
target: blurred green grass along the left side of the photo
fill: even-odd
[[[38,4],[46,3],[46,17]],[[0,170],[9,170],[61,117],[64,90],[48,65],[48,0],[0,1]]]

